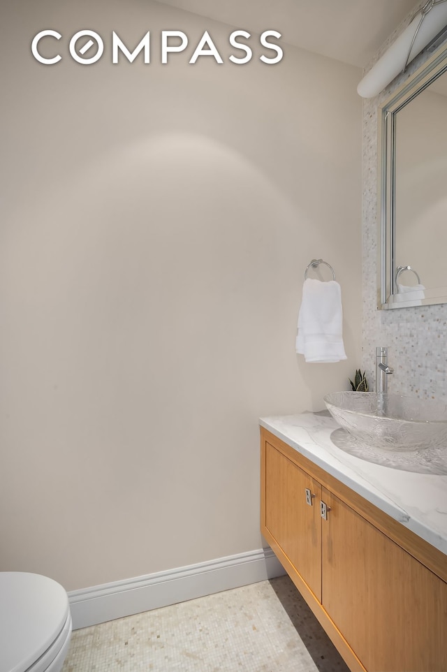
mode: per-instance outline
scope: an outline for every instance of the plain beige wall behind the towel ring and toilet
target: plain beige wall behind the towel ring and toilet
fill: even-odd
[[[235,66],[230,27],[149,0],[2,13],[0,569],[73,590],[260,548],[258,417],[323,408],[360,363],[360,73],[287,45]],[[92,66],[66,54],[85,28]],[[150,65],[111,64],[112,30],[149,29]],[[162,29],[225,63],[162,66]],[[345,363],[295,354],[314,257]]]

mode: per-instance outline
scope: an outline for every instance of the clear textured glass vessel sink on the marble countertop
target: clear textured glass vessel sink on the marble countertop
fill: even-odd
[[[386,451],[447,448],[447,404],[376,392],[332,392],[324,402],[342,428]]]

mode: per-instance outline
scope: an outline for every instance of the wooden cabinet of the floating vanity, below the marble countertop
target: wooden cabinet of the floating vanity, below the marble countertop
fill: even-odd
[[[264,429],[261,457],[263,535],[349,668],[446,672],[446,556]]]

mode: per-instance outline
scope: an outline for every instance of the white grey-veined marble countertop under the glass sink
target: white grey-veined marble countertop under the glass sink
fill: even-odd
[[[266,417],[260,424],[447,555],[447,470],[418,473],[362,460],[335,445],[344,430],[326,411]]]

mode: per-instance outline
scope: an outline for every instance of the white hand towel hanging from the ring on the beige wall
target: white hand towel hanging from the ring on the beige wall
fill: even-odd
[[[298,315],[296,351],[306,362],[346,359],[342,335],[342,290],[335,280],[305,279]]]

